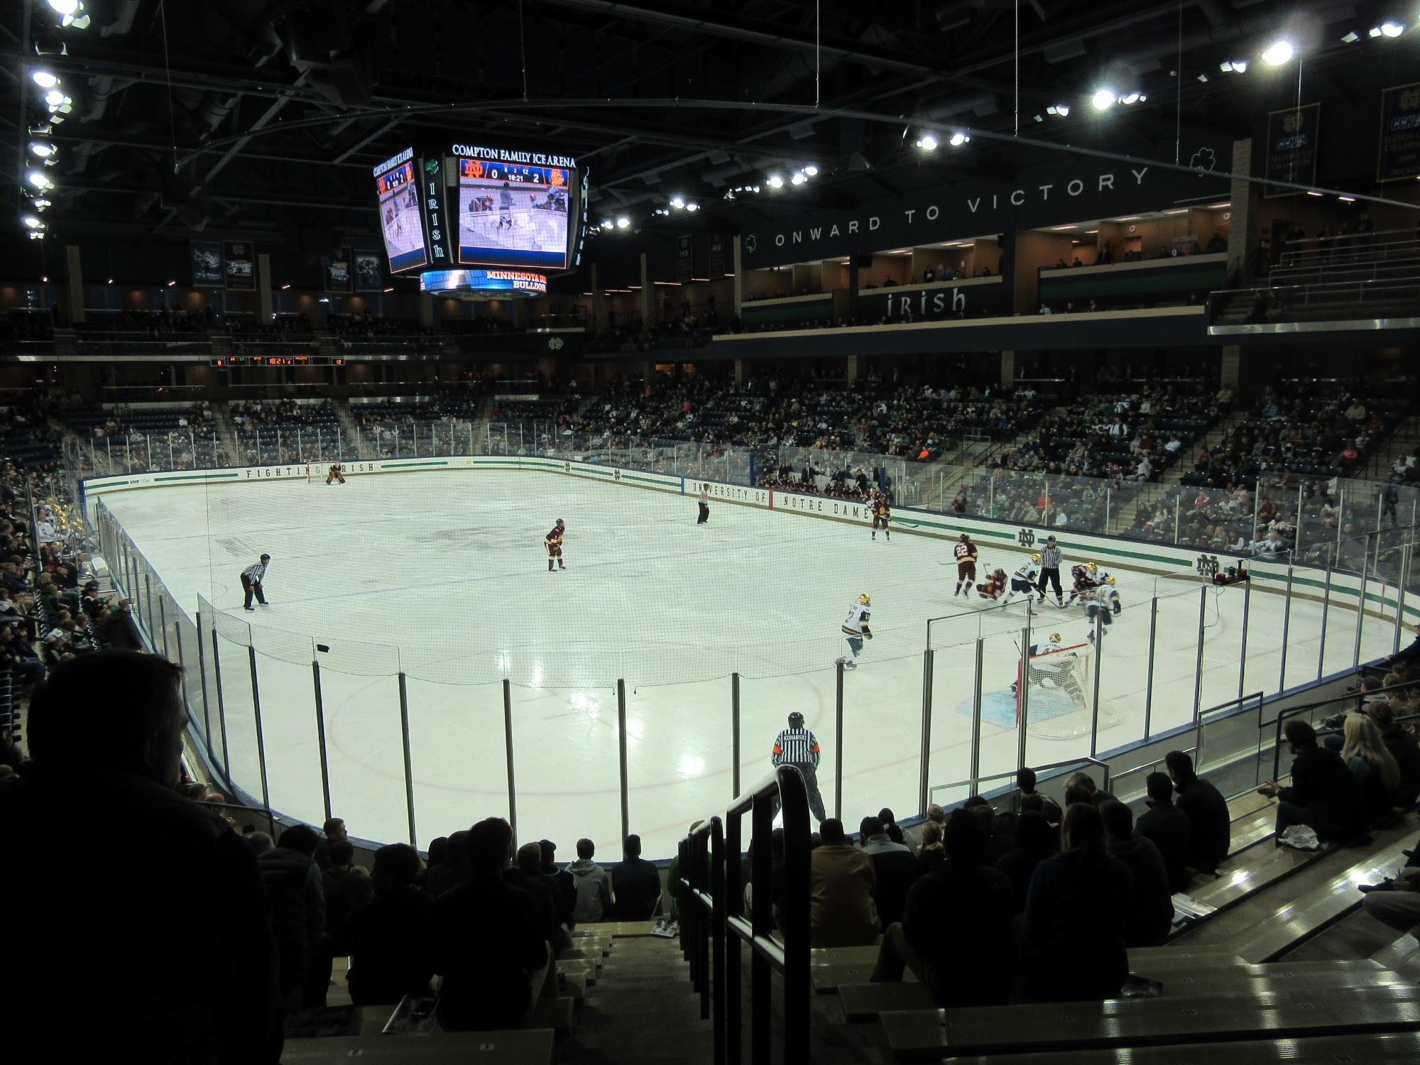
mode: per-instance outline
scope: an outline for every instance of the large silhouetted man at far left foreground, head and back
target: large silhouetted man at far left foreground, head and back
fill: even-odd
[[[43,934],[7,937],[6,1015],[72,1061],[275,1065],[271,912],[251,848],[176,791],[187,724],[179,677],[156,655],[99,650],[36,690],[33,761],[0,785],[0,853],[11,926]],[[92,818],[95,795],[141,825],[85,836],[101,886],[41,858]],[[197,956],[213,964],[195,971]],[[101,958],[92,994],[75,985],[85,957]],[[16,1061],[28,1056],[11,1044]]]

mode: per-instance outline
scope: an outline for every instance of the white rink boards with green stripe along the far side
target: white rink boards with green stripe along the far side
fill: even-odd
[[[324,467],[324,464],[322,464]],[[751,488],[740,484],[696,480],[648,470],[628,470],[599,463],[579,463],[547,457],[514,456],[452,456],[444,459],[382,459],[344,463],[346,477],[382,473],[430,473],[436,470],[542,470],[567,477],[582,477],[604,483],[626,484],[677,496],[697,497],[706,490],[716,503],[731,503],[741,507],[798,514],[829,521],[870,525],[872,514],[866,503],[838,500],[826,496],[807,496],[780,491],[777,488]],[[135,488],[158,488],[195,484],[253,484],[254,487],[278,480],[305,480],[304,463],[281,466],[241,466],[222,470],[166,470],[153,473],[132,473],[115,477],[95,477],[84,481],[85,508],[88,498],[114,491]],[[88,513],[85,510],[85,513]],[[893,508],[892,531],[910,532],[923,537],[956,540],[967,532],[983,548],[998,548],[1017,554],[1039,551],[1049,530],[1031,525],[1008,525],[1000,521],[976,518],[967,514],[934,514],[930,511]],[[1083,557],[1108,562],[1113,567],[1140,569],[1166,577],[1193,577],[1211,579],[1214,572],[1223,572],[1230,565],[1245,562],[1252,575],[1252,586],[1260,591],[1289,594],[1291,596],[1318,599],[1326,595],[1335,605],[1356,606],[1360,596],[1360,577],[1346,572],[1326,574],[1315,567],[1292,567],[1291,589],[1288,591],[1288,567],[1261,558],[1247,558],[1228,554],[1203,552],[1196,548],[1150,544],[1119,537],[1102,537],[1088,532],[1058,532],[1055,542],[1065,554],[1065,568]],[[1366,612],[1380,616],[1394,615],[1400,596],[1393,584],[1366,582]],[[1403,611],[1407,619],[1420,619],[1420,605],[1406,602]]]

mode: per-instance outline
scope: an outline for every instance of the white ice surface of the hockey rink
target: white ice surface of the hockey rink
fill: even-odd
[[[332,812],[359,838],[409,838],[400,672],[420,845],[508,814],[504,676],[518,836],[554,839],[559,855],[585,835],[599,858],[619,856],[618,679],[626,682],[630,831],[650,858],[670,856],[692,821],[731,797],[736,672],[741,784],[770,768],[774,737],[798,710],[824,747],[819,785],[831,814],[835,757],[851,826],[880,807],[914,812],[927,619],[944,615],[963,616],[932,626],[929,780],[944,785],[970,772],[978,635],[990,707],[981,774],[1015,765],[1010,686],[1025,606],[978,611],[974,595],[954,598],[950,541],[900,531],[872,541],[863,527],[728,503],[713,504],[710,523],[697,525],[690,496],[534,471],[400,473],[332,487],[267,480],[102,501],[189,615],[199,596],[216,605],[226,750],[217,736],[213,750],[260,795],[247,643],[256,648],[271,805],[315,822],[324,811],[311,660],[321,662]],[[542,537],[557,518],[567,523],[568,568],[548,574]],[[273,557],[271,605],[244,613],[239,572],[261,552]],[[983,548],[981,568],[1010,574],[1022,554]],[[1086,559],[1066,550],[1065,568],[1078,561]],[[1240,690],[1272,693],[1315,680],[1322,666],[1352,665],[1352,609],[1328,611],[1322,663],[1322,604],[1294,598],[1284,677],[1281,594],[1251,592],[1244,656],[1241,588],[1112,572],[1123,612],[1098,672],[1102,719],[1118,723],[1100,731],[1102,751],[1143,737],[1146,704],[1157,734],[1193,720],[1196,701],[1207,710]],[[839,622],[861,592],[872,595],[875,639],[845,673],[835,750]],[[1081,643],[1089,630],[1082,611],[1049,604],[1031,623],[1032,640],[1058,632]],[[1360,659],[1389,653],[1393,639],[1392,618],[1365,618]],[[212,677],[210,636],[207,648]],[[1088,676],[1093,682],[1092,660]],[[1088,736],[1028,730],[1030,764],[1088,753]]]

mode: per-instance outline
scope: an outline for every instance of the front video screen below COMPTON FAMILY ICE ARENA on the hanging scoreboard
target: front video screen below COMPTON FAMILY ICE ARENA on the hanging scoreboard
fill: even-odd
[[[486,158],[459,162],[459,263],[565,270],[575,172]]]

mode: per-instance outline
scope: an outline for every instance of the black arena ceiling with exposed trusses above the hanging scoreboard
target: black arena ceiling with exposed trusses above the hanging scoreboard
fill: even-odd
[[[0,0],[0,152],[18,210],[38,121],[28,72],[58,74],[74,106],[53,131],[54,229],[139,244],[196,233],[310,251],[375,241],[371,166],[454,138],[577,156],[594,223],[628,214],[643,234],[733,233],[777,210],[1008,176],[1048,155],[995,138],[924,153],[923,129],[1020,129],[1066,151],[1135,153],[1200,129],[1250,135],[1298,92],[1296,64],[1257,62],[1278,36],[1304,50],[1308,99],[1358,101],[1420,70],[1420,30],[1367,41],[1389,10],[1375,0],[85,6],[87,28],[58,30],[45,0]],[[1360,41],[1343,43],[1352,30]],[[1244,57],[1247,74],[1220,72]],[[1147,98],[1098,114],[1088,99],[1106,84]],[[1061,102],[1068,116],[1037,121]],[[763,187],[770,172],[805,165],[819,172],[807,185]],[[761,192],[726,197],[741,185]],[[655,214],[677,195],[703,210]]]

